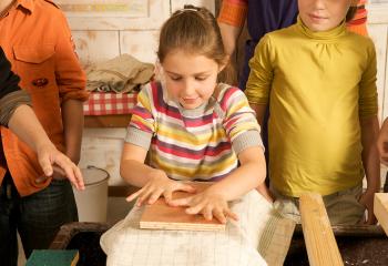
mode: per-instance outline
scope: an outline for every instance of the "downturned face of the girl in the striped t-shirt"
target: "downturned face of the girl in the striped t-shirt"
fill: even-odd
[[[162,66],[170,98],[184,109],[195,109],[208,101],[222,70],[216,61],[181,49],[169,52]]]

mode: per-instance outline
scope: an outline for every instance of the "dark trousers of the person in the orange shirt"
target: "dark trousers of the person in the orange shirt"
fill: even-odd
[[[33,249],[49,248],[61,225],[76,221],[76,205],[69,181],[52,181],[47,188],[20,197],[7,173],[0,186],[1,265],[18,265],[17,231],[28,258]]]

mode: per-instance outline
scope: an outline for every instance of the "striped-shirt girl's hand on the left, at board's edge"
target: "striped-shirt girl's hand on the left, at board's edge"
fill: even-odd
[[[167,204],[172,201],[173,192],[185,191],[194,193],[195,188],[188,184],[169,178],[165,173],[153,176],[141,190],[126,197],[131,202],[139,197],[136,205],[142,206],[144,202],[154,204],[162,195]]]

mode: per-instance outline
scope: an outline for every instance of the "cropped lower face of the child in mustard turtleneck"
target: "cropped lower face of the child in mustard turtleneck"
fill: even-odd
[[[345,20],[353,0],[298,0],[302,21],[313,31],[327,31]]]

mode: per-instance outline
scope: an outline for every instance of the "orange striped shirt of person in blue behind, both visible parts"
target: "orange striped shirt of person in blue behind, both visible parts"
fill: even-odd
[[[272,0],[274,1],[274,0]],[[223,0],[218,22],[231,24],[235,27],[243,27],[247,10],[248,0]],[[367,35],[367,10],[365,8],[367,0],[358,0],[357,12],[351,21],[347,23],[348,30],[359,33],[361,35]]]

